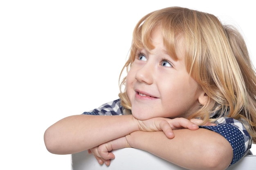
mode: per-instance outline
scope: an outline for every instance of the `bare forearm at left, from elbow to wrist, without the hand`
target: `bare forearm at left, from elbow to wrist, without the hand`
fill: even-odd
[[[138,126],[132,115],[74,115],[50,126],[44,135],[45,146],[54,154],[72,154],[123,137]]]

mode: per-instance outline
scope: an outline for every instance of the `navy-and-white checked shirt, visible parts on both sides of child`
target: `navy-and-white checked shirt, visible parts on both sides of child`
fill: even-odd
[[[89,112],[84,112],[83,114],[123,115],[123,107],[121,106],[120,99],[117,99],[103,104],[99,108],[93,109]],[[249,152],[249,149],[252,146],[252,137],[250,137],[242,122],[236,119],[230,117],[221,117],[214,123],[216,126],[200,126],[200,128],[206,128],[217,132],[229,141],[234,153],[233,160],[230,164],[232,165],[245,156],[247,152]]]

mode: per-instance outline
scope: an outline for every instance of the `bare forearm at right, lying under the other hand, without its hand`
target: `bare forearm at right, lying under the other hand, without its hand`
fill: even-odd
[[[163,132],[132,132],[128,143],[167,161],[191,170],[226,169],[233,158],[229,142],[216,132],[206,129],[174,130],[168,139]]]

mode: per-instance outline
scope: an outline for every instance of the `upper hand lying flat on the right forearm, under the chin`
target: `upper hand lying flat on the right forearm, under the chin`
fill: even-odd
[[[146,132],[163,131],[166,137],[172,139],[174,137],[173,130],[188,128],[197,130],[199,127],[192,121],[179,117],[175,119],[155,117],[147,120],[138,120],[139,130]]]

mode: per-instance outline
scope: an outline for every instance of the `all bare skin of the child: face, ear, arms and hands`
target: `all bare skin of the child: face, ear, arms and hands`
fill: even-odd
[[[111,150],[133,147],[191,170],[224,170],[229,166],[233,158],[229,142],[216,132],[198,128],[195,124],[200,120],[182,118],[186,110],[207,101],[186,72],[182,49],[175,61],[166,54],[159,30],[153,31],[152,40],[155,49],[141,49],[143,55],[138,55],[127,76],[132,115],[61,119],[45,131],[49,152],[89,150],[100,164],[109,166],[115,158]],[[179,43],[182,47],[182,39]]]

